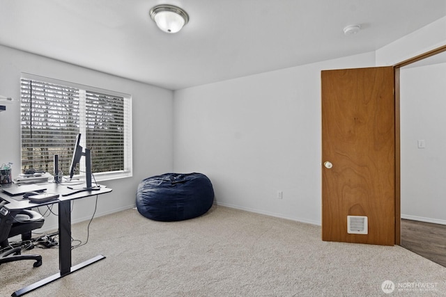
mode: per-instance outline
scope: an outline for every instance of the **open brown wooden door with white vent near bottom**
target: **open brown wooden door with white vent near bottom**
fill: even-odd
[[[326,70],[322,79],[322,239],[395,243],[394,68]],[[328,166],[330,167],[330,166]],[[367,216],[367,234],[347,232]]]

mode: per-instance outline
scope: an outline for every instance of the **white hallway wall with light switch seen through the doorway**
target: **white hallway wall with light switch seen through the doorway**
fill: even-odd
[[[446,224],[446,63],[401,69],[400,77],[401,216]]]

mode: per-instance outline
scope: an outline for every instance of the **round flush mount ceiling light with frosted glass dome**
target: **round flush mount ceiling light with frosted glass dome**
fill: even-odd
[[[158,28],[166,33],[176,33],[189,22],[189,15],[183,9],[169,4],[155,6],[150,15]]]

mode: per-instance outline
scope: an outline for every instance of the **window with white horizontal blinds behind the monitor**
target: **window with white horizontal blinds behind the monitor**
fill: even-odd
[[[132,176],[130,95],[22,74],[21,97],[22,170],[53,173],[58,154],[68,175],[80,133],[96,180]]]

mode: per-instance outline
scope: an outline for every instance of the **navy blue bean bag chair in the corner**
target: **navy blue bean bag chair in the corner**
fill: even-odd
[[[210,180],[201,173],[166,173],[143,179],[137,189],[139,214],[171,222],[206,214],[214,202]]]

